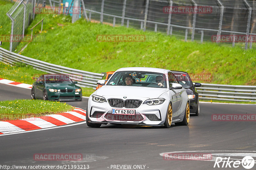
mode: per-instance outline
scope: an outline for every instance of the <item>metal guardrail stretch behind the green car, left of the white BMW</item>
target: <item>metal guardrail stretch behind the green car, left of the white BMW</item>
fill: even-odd
[[[100,73],[93,73],[89,71],[83,71],[83,70],[78,70],[74,68],[69,68],[69,67],[64,67],[64,66],[59,66],[56,64],[51,64],[47,63],[41,60],[36,60],[33,58],[29,58],[17,53],[10,52],[4,48],[0,47],[0,61],[4,63],[10,63],[12,65],[15,65],[17,62],[25,63],[27,65],[33,66],[35,69],[44,71],[46,73],[50,74],[68,74],[71,75],[72,77],[78,77],[76,78],[76,81],[78,82],[77,84],[80,87],[89,87],[96,89],[98,86],[96,83],[98,80],[101,80],[104,76],[104,74]]]

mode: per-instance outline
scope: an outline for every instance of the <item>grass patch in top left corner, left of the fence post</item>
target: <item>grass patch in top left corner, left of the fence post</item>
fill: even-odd
[[[11,26],[12,21],[11,19],[6,15],[6,13],[12,8],[14,3],[11,3],[10,1],[1,0],[0,1],[0,40],[3,41],[4,35],[10,35],[11,34]],[[10,42],[3,42],[2,46],[4,49],[9,50]]]

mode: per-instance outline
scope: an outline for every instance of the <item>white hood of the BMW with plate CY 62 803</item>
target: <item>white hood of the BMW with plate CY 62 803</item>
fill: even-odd
[[[150,87],[137,87],[137,86],[102,86],[95,91],[95,95],[111,98],[112,96],[125,99],[136,98],[158,98],[168,89],[166,88],[150,88]]]

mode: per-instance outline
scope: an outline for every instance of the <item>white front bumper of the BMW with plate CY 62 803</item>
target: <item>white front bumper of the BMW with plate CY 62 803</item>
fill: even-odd
[[[90,101],[88,103],[87,114],[89,117],[89,122],[91,123],[118,123],[161,126],[164,124],[167,112],[167,106],[165,107],[164,103],[152,106],[141,103],[138,108],[132,108],[135,110],[135,115],[117,115],[112,114],[112,109],[128,108],[115,108],[111,107],[107,102],[99,104],[97,102]]]

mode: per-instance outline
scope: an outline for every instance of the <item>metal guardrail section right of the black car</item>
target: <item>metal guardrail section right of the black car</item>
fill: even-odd
[[[199,99],[256,102],[256,86],[201,84],[196,88]]]

